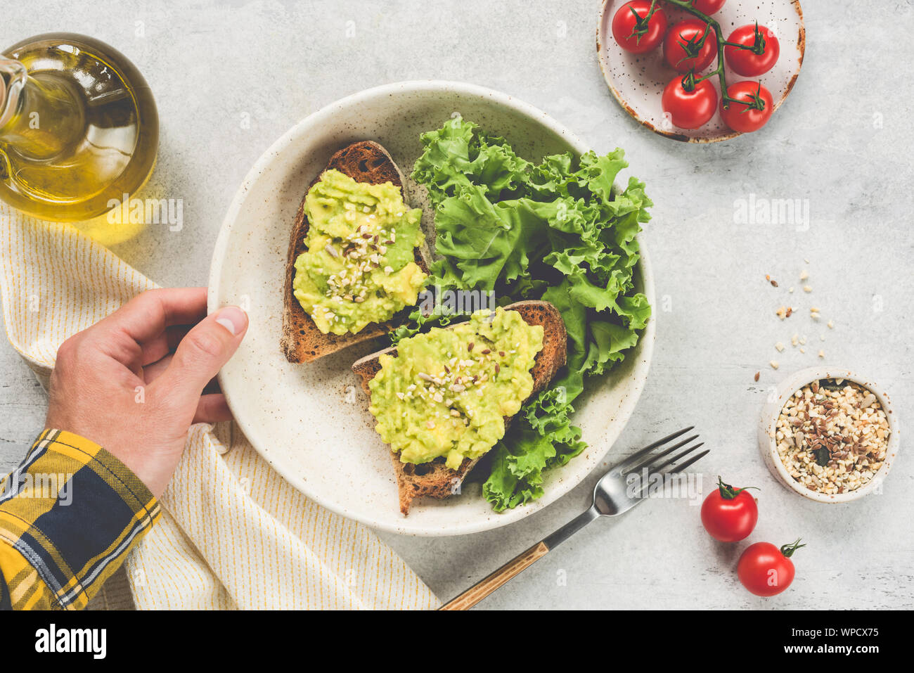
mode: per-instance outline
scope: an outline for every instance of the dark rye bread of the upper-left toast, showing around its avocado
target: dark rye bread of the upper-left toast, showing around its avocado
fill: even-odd
[[[372,185],[380,185],[385,182],[393,183],[395,187],[400,188],[403,200],[404,202],[406,201],[406,193],[403,191],[403,174],[387,150],[377,143],[365,140],[345,146],[330,157],[330,162],[324,170],[331,168],[335,168],[340,173],[353,178],[356,182],[366,182]],[[323,175],[323,171],[321,173]],[[305,190],[305,196],[320,179],[321,176],[314,178],[314,181]],[[335,335],[332,333],[324,334],[314,325],[314,320],[305,313],[302,304],[299,304],[292,292],[295,260],[306,250],[304,237],[307,233],[308,219],[304,215],[303,197],[302,203],[298,207],[298,213],[295,215],[295,221],[292,224],[292,236],[289,239],[289,255],[286,261],[285,285],[282,296],[282,338],[280,339],[280,345],[286,359],[290,362],[311,362],[317,358],[323,358],[325,355],[330,355],[345,347],[382,337],[394,327],[393,321],[371,323],[356,334]],[[416,249],[416,263],[419,264],[422,271],[429,272],[429,265],[423,259],[420,248]]]

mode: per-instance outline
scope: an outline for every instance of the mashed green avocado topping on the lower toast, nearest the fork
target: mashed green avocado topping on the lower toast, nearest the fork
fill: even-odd
[[[505,436],[504,417],[533,390],[530,369],[542,348],[542,326],[504,308],[401,340],[369,383],[377,432],[402,463],[445,456],[456,469],[478,458]]]

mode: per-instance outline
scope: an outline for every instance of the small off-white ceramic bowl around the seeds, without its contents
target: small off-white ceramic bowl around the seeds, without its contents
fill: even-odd
[[[886,411],[888,428],[890,431],[888,435],[886,458],[882,462],[882,466],[877,470],[876,475],[873,475],[873,478],[864,486],[860,486],[853,491],[845,491],[845,493],[826,494],[813,491],[812,489],[803,486],[787,471],[787,468],[781,461],[781,456],[778,454],[777,443],[775,441],[778,416],[781,415],[781,409],[784,404],[797,390],[801,390],[803,386],[812,383],[814,380],[821,379],[844,379],[852,381],[873,393],[879,404],[882,405],[883,410]],[[815,500],[816,502],[850,502],[851,500],[856,500],[857,498],[864,497],[876,491],[879,486],[881,486],[883,479],[886,478],[888,470],[895,462],[895,457],[898,454],[898,436],[898,416],[892,409],[891,399],[888,397],[884,388],[874,383],[871,379],[858,376],[847,369],[810,368],[801,369],[782,380],[781,384],[777,387],[776,394],[771,395],[768,401],[766,401],[761,411],[759,449],[762,458],[765,460],[765,465],[768,465],[768,469],[771,470],[771,474],[774,475],[781,484],[790,488],[792,491],[799,493],[802,497],[808,497],[810,500]]]

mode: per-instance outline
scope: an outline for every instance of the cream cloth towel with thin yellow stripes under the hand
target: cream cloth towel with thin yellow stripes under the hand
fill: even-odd
[[[153,287],[80,230],[0,202],[6,334],[42,385],[64,339]],[[370,529],[289,486],[234,423],[191,428],[160,501],[162,519],[126,563],[141,609],[439,604]]]

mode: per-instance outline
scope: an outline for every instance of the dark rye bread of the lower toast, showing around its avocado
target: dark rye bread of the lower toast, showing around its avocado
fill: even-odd
[[[558,309],[548,302],[527,301],[517,302],[505,306],[505,309],[516,311],[524,318],[528,325],[543,326],[543,349],[537,353],[534,359],[533,369],[530,373],[533,375],[533,391],[530,397],[537,395],[541,390],[546,388],[550,380],[556,375],[558,369],[565,365],[565,358],[568,353],[568,335],[565,331],[565,322],[562,320]],[[377,372],[381,369],[380,356],[384,354],[397,354],[397,348],[391,347],[367,355],[365,358],[356,360],[352,370],[356,372],[361,379],[362,390],[370,397],[371,389],[368,388],[368,382],[375,378]],[[511,419],[505,417],[505,428],[510,424]],[[463,478],[469,474],[473,466],[479,461],[464,458],[460,467],[452,470],[444,465],[444,458],[436,458],[430,463],[413,465],[412,463],[400,463],[399,454],[390,452],[393,460],[394,470],[397,474],[397,489],[399,492],[399,506],[403,515],[409,514],[409,505],[417,497],[429,496],[444,498],[451,496],[457,490]]]

